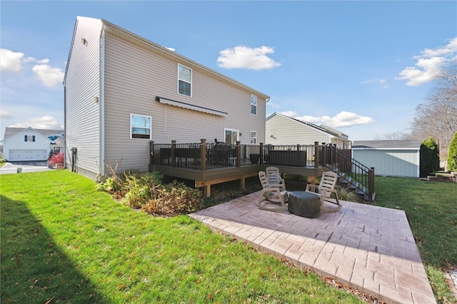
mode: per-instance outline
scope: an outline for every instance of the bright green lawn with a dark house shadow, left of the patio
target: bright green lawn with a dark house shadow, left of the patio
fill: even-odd
[[[360,303],[189,216],[122,206],[76,173],[0,178],[1,303]]]

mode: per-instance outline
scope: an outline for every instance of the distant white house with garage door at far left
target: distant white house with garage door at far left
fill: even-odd
[[[46,161],[51,151],[64,151],[64,131],[7,127],[3,145],[7,161]]]

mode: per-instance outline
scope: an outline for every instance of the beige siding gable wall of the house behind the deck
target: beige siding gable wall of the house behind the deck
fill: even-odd
[[[330,136],[322,131],[279,115],[266,121],[265,130],[265,142],[272,145],[313,145],[315,141],[329,143],[331,140]]]

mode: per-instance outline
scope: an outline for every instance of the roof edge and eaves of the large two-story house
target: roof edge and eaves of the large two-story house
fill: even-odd
[[[222,80],[226,81],[227,83],[231,83],[234,86],[239,86],[241,88],[246,89],[247,91],[251,91],[251,93],[255,94],[258,97],[264,98],[267,102],[270,100],[270,96],[266,95],[265,93],[261,93],[260,91],[257,91],[254,88],[251,88],[250,86],[246,86],[246,84],[244,84],[244,83],[236,81],[233,78],[229,78],[228,76],[225,76],[224,74],[214,71],[213,69],[209,69],[209,67],[204,66],[203,64],[199,64],[196,61],[193,61],[180,54],[177,54],[175,51],[166,49],[166,47],[164,47],[164,46],[160,46],[159,44],[149,41],[149,40],[145,39],[144,37],[136,35],[136,34],[132,33],[131,31],[127,31],[126,29],[123,29],[120,26],[116,26],[116,24],[112,24],[111,22],[106,21],[104,19],[94,19],[94,18],[89,18],[89,17],[77,16],[76,17],[76,26],[74,28],[74,34],[76,33],[78,21],[84,20],[84,19],[91,20],[91,21],[101,21],[101,24],[103,24],[104,29],[106,31],[110,31],[111,33],[118,34],[119,36],[124,36],[124,38],[129,39],[130,41],[134,41],[136,44],[140,44],[141,46],[146,46],[149,49],[154,49],[154,51],[158,52],[159,54],[161,54],[163,56],[174,58],[175,60],[177,60],[181,63],[185,63],[188,65],[194,66],[195,68],[200,69],[201,71],[204,71],[207,74],[211,74],[212,76],[214,76],[216,78],[221,78]],[[74,41],[71,42],[71,44],[73,44],[73,43],[74,43]],[[70,57],[71,57],[71,49],[70,49],[69,59],[67,60],[66,70],[68,69],[68,66],[69,66]],[[64,76],[64,82],[65,82],[65,79],[66,79],[66,71],[65,71],[65,76]]]

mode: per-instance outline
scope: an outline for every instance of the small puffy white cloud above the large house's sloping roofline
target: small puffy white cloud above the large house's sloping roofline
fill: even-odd
[[[225,69],[251,69],[256,71],[273,69],[281,66],[268,57],[268,54],[273,53],[274,50],[268,46],[253,49],[247,46],[235,46],[233,49],[220,51],[217,64]]]

